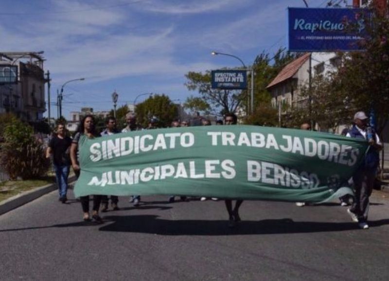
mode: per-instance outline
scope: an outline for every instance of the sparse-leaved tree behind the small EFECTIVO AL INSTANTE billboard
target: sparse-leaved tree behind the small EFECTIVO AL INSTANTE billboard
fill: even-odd
[[[211,111],[216,115],[223,115],[227,112],[236,112],[242,101],[247,97],[246,93],[238,90],[220,90],[211,87],[211,71],[202,72],[190,71],[185,75],[188,80],[185,86],[188,90],[197,90],[205,103],[211,106]]]

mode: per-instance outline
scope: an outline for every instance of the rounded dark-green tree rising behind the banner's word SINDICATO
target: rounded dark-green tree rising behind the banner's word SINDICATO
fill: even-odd
[[[177,118],[178,109],[168,96],[153,95],[145,101],[138,103],[135,108],[138,123],[146,128],[150,118],[157,117],[156,127],[169,127],[172,121]]]

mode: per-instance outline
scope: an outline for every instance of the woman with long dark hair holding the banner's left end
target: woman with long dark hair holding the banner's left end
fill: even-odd
[[[82,118],[80,125],[78,126],[77,133],[74,135],[74,138],[71,142],[70,148],[70,157],[71,157],[71,166],[73,167],[76,177],[80,176],[80,166],[78,161],[78,146],[85,137],[94,138],[98,134],[94,127],[94,117],[92,115],[86,115]],[[99,216],[99,207],[101,202],[101,195],[93,195],[93,209],[92,209],[92,219],[98,223],[102,222],[101,217]],[[89,196],[80,197],[82,210],[84,212],[84,220],[90,220],[89,217]]]

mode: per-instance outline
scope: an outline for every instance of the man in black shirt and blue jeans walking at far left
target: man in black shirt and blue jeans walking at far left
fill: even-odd
[[[58,184],[59,200],[65,203],[68,198],[68,176],[70,168],[69,149],[71,138],[66,135],[65,125],[58,123],[57,134],[54,134],[50,140],[49,147],[46,150],[46,158],[53,154],[53,165],[55,177]]]

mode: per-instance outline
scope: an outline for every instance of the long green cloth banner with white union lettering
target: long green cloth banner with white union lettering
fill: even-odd
[[[74,193],[321,202],[352,193],[341,187],[367,148],[335,134],[240,125],[82,137]]]

